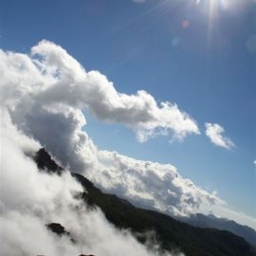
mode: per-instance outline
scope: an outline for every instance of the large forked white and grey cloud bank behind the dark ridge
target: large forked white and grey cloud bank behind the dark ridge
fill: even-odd
[[[104,191],[173,215],[224,204],[174,166],[101,151],[84,131],[85,108],[101,120],[130,127],[140,140],[155,133],[198,134],[196,122],[175,104],[158,106],[145,91],[119,93],[100,72],[85,71],[61,46],[47,41],[33,46],[30,54],[1,50],[0,75],[2,108],[19,131]]]

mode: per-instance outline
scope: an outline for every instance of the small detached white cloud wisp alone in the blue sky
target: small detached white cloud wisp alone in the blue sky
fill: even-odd
[[[206,136],[210,138],[210,141],[222,148],[230,149],[234,147],[234,143],[229,137],[224,137],[223,133],[225,129],[219,125],[218,123],[210,123],[207,122],[206,124]]]

